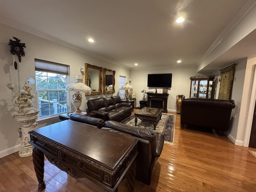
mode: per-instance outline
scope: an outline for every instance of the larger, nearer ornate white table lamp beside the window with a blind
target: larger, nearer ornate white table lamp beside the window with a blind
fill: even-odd
[[[74,114],[82,114],[82,111],[79,109],[82,104],[82,94],[80,91],[84,92],[85,95],[91,94],[91,88],[84,84],[83,78],[84,76],[82,75],[76,75],[76,81],[66,86],[66,90],[75,91],[72,98],[73,105],[76,108]]]

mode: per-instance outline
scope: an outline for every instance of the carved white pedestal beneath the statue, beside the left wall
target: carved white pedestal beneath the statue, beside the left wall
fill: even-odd
[[[30,134],[28,132],[37,129],[38,123],[36,119],[40,110],[35,110],[31,114],[15,114],[15,120],[20,122],[18,126],[19,139],[22,140],[22,149],[19,151],[20,157],[28,157],[32,155],[32,145],[28,142],[30,141]]]

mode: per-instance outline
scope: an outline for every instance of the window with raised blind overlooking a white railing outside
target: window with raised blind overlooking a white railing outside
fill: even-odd
[[[69,66],[35,60],[39,117],[67,112]]]

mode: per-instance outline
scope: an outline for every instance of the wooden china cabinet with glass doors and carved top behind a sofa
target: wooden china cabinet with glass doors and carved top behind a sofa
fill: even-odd
[[[212,84],[215,75],[203,76],[196,75],[190,77],[190,98],[212,98]]]

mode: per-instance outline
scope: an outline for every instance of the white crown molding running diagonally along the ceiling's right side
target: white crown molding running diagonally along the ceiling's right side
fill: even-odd
[[[252,8],[256,5],[255,0],[248,0],[244,7],[233,17],[229,24],[222,30],[210,48],[205,52],[205,54],[200,59],[199,63],[202,63],[206,57],[222,42],[224,38],[238,25],[238,23],[252,10]]]

